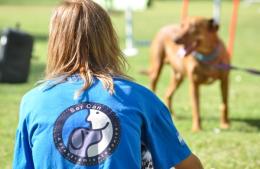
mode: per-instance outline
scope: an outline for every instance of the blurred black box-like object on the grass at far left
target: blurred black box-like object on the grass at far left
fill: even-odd
[[[26,82],[30,70],[33,37],[18,29],[6,29],[0,37],[0,82]]]

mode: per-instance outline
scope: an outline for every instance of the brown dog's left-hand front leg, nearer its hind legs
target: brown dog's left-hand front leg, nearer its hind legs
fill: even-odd
[[[199,84],[194,79],[194,75],[190,77],[190,97],[192,106],[192,131],[201,130],[201,119],[200,119],[200,101],[199,101]]]

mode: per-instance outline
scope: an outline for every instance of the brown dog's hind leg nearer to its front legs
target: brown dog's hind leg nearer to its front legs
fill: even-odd
[[[180,84],[183,81],[183,76],[181,73],[174,72],[170,81],[170,85],[165,93],[165,104],[168,106],[172,115],[175,116],[174,110],[172,109],[172,97],[174,96],[175,91],[178,89]]]

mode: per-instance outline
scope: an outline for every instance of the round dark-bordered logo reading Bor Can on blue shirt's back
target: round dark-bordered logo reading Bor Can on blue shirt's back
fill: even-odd
[[[79,165],[96,165],[110,156],[119,144],[119,119],[105,105],[77,104],[58,117],[53,139],[67,160]]]

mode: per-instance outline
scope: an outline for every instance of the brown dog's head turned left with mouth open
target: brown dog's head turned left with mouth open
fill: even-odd
[[[173,39],[176,44],[184,46],[185,56],[193,51],[207,51],[215,43],[219,25],[214,19],[202,17],[186,18],[182,21],[180,31]]]

